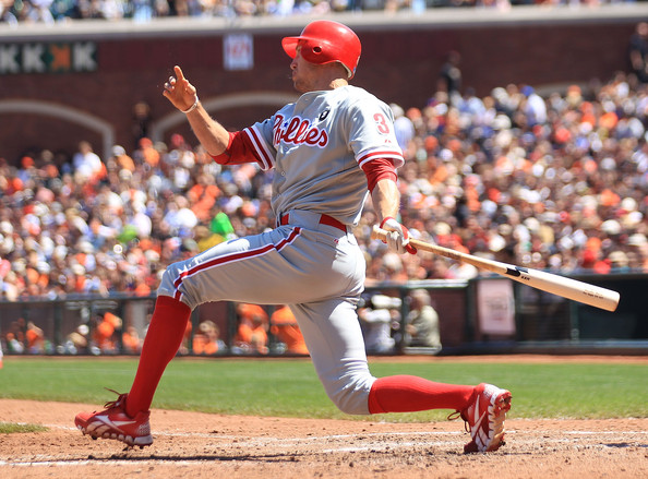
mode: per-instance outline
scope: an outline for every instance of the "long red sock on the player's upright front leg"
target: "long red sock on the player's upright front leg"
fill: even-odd
[[[158,296],[144,338],[137,373],[127,397],[125,412],[135,417],[151,408],[155,390],[167,364],[182,343],[191,309],[170,296]]]

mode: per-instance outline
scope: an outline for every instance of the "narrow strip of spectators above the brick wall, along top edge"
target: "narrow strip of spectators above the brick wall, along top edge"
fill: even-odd
[[[421,12],[428,8],[497,8],[543,4],[596,7],[635,0],[0,0],[0,23],[55,23],[70,20],[148,22],[168,16],[237,17],[326,14],[384,10]]]

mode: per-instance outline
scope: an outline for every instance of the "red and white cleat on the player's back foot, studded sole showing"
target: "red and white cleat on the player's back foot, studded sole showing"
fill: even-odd
[[[509,409],[511,392],[492,384],[478,385],[470,406],[456,412],[466,421],[466,430],[472,436],[464,453],[490,453],[503,446],[504,419]]]

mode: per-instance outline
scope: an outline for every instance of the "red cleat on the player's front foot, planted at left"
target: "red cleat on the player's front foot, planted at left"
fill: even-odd
[[[112,391],[112,390],[109,390]],[[118,394],[117,400],[106,403],[105,409],[95,412],[80,412],[74,418],[76,428],[83,434],[92,439],[112,439],[123,442],[129,447],[140,448],[151,445],[151,424],[148,423],[149,411],[137,412],[131,418],[125,412],[125,400],[128,394]]]

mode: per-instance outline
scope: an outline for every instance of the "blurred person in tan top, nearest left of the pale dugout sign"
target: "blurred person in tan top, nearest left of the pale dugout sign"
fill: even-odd
[[[441,350],[439,314],[431,304],[430,291],[415,289],[408,295],[409,314],[405,321],[405,344]]]

